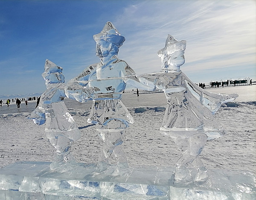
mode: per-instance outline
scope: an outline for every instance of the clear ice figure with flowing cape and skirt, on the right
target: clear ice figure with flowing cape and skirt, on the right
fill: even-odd
[[[208,179],[208,173],[199,155],[207,140],[224,134],[212,115],[222,103],[233,101],[238,95],[209,93],[195,85],[180,70],[185,62],[185,48],[185,40],[178,42],[168,35],[165,48],[158,51],[162,71],[141,75],[139,79],[149,89],[153,83],[155,90],[165,93],[167,106],[160,132],[172,137],[182,152],[175,167],[175,183],[202,183]]]

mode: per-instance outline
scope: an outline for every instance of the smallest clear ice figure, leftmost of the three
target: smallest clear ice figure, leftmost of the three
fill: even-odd
[[[64,166],[68,169],[68,166],[76,163],[75,158],[70,155],[71,144],[77,141],[81,134],[64,103],[66,96],[62,68],[47,59],[42,76],[47,90],[41,95],[38,107],[29,118],[38,125],[46,121],[46,137],[56,149],[55,161],[50,164],[50,168]]]

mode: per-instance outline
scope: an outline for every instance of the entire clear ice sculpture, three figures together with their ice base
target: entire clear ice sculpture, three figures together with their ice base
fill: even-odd
[[[125,61],[117,58],[125,38],[111,22],[93,38],[96,56],[101,61],[88,66],[67,85],[62,68],[46,60],[42,76],[47,90],[29,118],[38,125],[46,123],[45,133],[56,148],[56,159],[52,163],[17,162],[0,169],[0,199],[255,198],[255,175],[225,170],[208,172],[199,158],[207,140],[224,134],[212,115],[221,104],[233,101],[237,95],[209,93],[180,70],[185,62],[186,41],[179,42],[168,35],[165,47],[158,51],[162,70],[137,77]],[[160,132],[172,137],[182,151],[175,169],[172,166],[134,166],[133,170],[128,170],[121,145],[126,129],[134,123],[121,101],[128,84],[143,90],[164,91],[167,106]],[[93,101],[88,122],[96,124],[104,141],[98,165],[76,163],[70,155],[72,142],[81,135],[64,104],[65,97],[79,102]],[[143,112],[143,108],[138,108],[137,112]],[[111,154],[117,158],[117,165],[108,163]]]

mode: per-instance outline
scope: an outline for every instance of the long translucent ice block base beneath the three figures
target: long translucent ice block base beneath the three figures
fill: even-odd
[[[250,172],[209,170],[201,185],[174,185],[172,167],[137,166],[129,176],[92,173],[94,164],[77,163],[57,172],[48,162],[17,162],[0,169],[0,200],[253,200]]]

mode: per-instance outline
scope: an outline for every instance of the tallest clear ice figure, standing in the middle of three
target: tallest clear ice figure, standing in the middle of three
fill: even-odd
[[[93,35],[93,39],[96,41],[96,56],[101,62],[85,68],[79,76],[67,83],[65,91],[68,98],[76,101],[93,100],[87,121],[96,124],[104,141],[98,170],[113,173],[108,165],[108,158],[113,153],[117,159],[114,170],[120,173],[120,169],[128,168],[121,144],[125,130],[134,122],[121,97],[128,79],[131,82],[138,80],[134,70],[117,58],[125,37],[119,34],[111,22],[107,22],[99,34]]]

